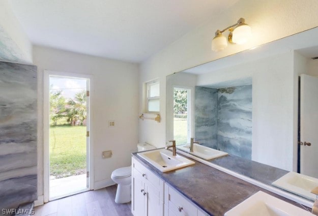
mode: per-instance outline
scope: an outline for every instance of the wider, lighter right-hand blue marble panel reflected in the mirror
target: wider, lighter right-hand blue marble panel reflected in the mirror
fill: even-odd
[[[218,89],[218,149],[251,160],[252,85]]]

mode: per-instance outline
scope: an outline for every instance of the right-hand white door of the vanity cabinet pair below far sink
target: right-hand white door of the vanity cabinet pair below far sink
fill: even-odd
[[[147,216],[162,216],[163,204],[160,202],[160,191],[147,182]]]

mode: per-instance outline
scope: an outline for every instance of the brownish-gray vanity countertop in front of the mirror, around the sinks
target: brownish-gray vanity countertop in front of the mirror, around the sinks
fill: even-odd
[[[274,197],[304,208],[299,203],[278,196],[198,161],[195,161],[194,165],[162,173],[140,158],[137,152],[132,155],[209,215],[223,216],[226,211],[258,191],[264,191]],[[188,159],[194,161],[193,159]]]

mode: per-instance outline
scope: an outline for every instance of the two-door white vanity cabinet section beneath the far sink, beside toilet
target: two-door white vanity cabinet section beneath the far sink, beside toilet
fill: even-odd
[[[163,185],[147,167],[132,158],[132,202],[134,216],[163,216]]]

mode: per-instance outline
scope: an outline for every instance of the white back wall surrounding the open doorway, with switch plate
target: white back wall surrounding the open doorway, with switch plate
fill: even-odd
[[[77,54],[46,47],[34,47],[38,66],[38,196],[43,195],[43,71],[93,76],[91,122],[94,150],[94,186],[110,183],[111,172],[130,166],[131,151],[138,141],[138,66],[123,61]],[[115,127],[109,128],[108,121]],[[110,159],[102,151],[112,150]]]

